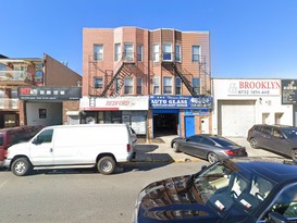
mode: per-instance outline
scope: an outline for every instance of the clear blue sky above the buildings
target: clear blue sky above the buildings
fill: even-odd
[[[180,4],[183,3],[183,4]],[[83,28],[209,30],[211,76],[297,78],[297,0],[1,0],[0,54],[83,74]]]

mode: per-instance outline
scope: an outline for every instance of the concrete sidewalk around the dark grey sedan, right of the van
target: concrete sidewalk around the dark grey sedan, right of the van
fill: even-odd
[[[136,157],[135,162],[206,162],[199,158],[185,154],[183,152],[174,152],[171,149],[171,140],[174,136],[164,136],[146,143],[145,140],[138,140],[136,146]],[[250,147],[246,138],[234,137],[231,140],[237,143],[240,146],[246,147],[248,157],[261,157],[261,158],[282,158],[281,156],[274,154],[272,152],[265,151],[263,149],[253,149]]]

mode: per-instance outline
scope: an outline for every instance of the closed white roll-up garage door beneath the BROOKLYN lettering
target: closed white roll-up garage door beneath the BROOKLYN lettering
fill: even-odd
[[[253,100],[219,101],[219,134],[226,137],[247,137],[255,124]]]

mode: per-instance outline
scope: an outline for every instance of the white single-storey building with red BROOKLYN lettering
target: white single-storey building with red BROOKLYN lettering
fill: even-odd
[[[288,97],[284,94],[286,87],[283,87],[283,82],[213,78],[212,133],[226,137],[247,137],[248,129],[255,124],[296,126],[296,99],[295,102],[282,100],[282,96]],[[297,90],[296,87],[294,89]]]

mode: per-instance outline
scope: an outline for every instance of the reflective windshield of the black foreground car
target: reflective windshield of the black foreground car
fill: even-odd
[[[224,214],[232,208],[249,213],[269,196],[274,184],[251,172],[243,172],[226,160],[195,175],[195,186],[203,203]]]

